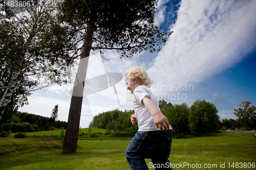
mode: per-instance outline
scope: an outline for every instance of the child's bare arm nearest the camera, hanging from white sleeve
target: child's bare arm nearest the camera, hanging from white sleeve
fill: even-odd
[[[162,114],[162,112],[159,110],[157,105],[151,100],[151,98],[146,95],[145,98],[141,100],[141,103],[147,108],[147,110],[153,116],[156,126],[160,128],[161,131],[163,131],[163,128],[165,131],[167,131],[167,129],[169,129],[168,119]]]

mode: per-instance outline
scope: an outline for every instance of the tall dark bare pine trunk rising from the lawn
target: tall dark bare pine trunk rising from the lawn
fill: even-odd
[[[62,147],[62,153],[75,153],[77,148],[77,140],[79,134],[79,124],[82,109],[82,99],[83,99],[83,87],[84,81],[86,80],[86,72],[88,67],[88,60],[90,56],[90,51],[92,47],[93,33],[95,29],[95,23],[88,23],[88,29],[86,37],[84,38],[81,58],[78,65],[78,70],[76,74],[76,80],[74,83],[67,130],[65,133],[65,138]]]

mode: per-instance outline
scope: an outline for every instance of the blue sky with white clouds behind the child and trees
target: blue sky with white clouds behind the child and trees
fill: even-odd
[[[159,1],[155,23],[174,31],[159,53],[142,52],[132,59],[120,59],[105,52],[109,61],[91,54],[87,80],[135,66],[144,67],[159,100],[172,104],[205,99],[217,106],[220,118],[233,118],[240,101],[256,105],[256,1]],[[76,68],[74,69],[75,72]],[[188,88],[190,87],[190,89]],[[67,121],[72,84],[36,91],[29,105],[20,111],[50,116],[59,105],[58,119]],[[89,126],[102,111],[133,109],[133,96],[124,80],[114,89],[84,94],[80,126]],[[119,105],[120,104],[120,105]]]

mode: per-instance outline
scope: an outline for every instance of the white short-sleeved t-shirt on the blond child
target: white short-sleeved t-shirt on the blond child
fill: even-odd
[[[146,132],[146,131],[160,130],[160,128],[156,126],[154,122],[154,118],[151,115],[151,113],[146,109],[145,106],[141,104],[141,100],[145,98],[145,95],[147,95],[158,106],[159,101],[156,98],[156,96],[152,93],[150,88],[148,88],[145,85],[140,85],[136,87],[133,94],[134,94],[133,103],[135,106],[134,111],[135,111],[135,116],[136,116],[138,127],[139,127],[138,131]],[[169,129],[172,129],[172,127],[169,126]]]

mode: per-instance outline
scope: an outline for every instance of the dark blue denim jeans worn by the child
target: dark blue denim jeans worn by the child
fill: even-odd
[[[168,160],[172,138],[172,130],[137,132],[125,152],[131,169],[148,169],[144,159],[151,159],[149,167],[154,169],[172,169]]]

